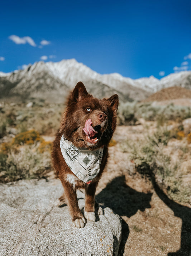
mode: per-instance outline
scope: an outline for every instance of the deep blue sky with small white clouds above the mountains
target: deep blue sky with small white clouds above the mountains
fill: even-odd
[[[10,1],[0,4],[0,71],[75,58],[125,77],[191,70],[191,1]]]

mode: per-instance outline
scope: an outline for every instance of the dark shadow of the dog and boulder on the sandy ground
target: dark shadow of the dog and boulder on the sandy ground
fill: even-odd
[[[128,218],[136,214],[138,210],[144,211],[151,208],[152,193],[142,193],[130,188],[125,183],[125,176],[114,178],[99,194],[96,195],[96,202],[111,208],[120,216]],[[122,220],[122,239],[119,247],[119,256],[124,253],[125,243],[129,236],[128,224]]]

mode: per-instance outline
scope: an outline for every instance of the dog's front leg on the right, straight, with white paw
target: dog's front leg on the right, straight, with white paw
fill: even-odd
[[[87,220],[95,221],[95,191],[97,182],[92,182],[86,187],[84,216]]]

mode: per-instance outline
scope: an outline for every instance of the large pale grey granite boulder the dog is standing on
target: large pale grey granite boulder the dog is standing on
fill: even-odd
[[[78,191],[83,211],[84,194]],[[72,227],[68,207],[57,207],[63,193],[57,179],[21,180],[0,184],[1,255],[104,256],[118,255],[121,221],[108,207],[96,222]]]

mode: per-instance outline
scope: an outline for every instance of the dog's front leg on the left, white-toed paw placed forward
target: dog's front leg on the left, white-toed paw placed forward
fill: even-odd
[[[86,221],[78,206],[76,188],[74,188],[71,184],[68,183],[63,184],[63,187],[68,202],[68,207],[72,216],[72,223],[77,228],[83,228]]]

